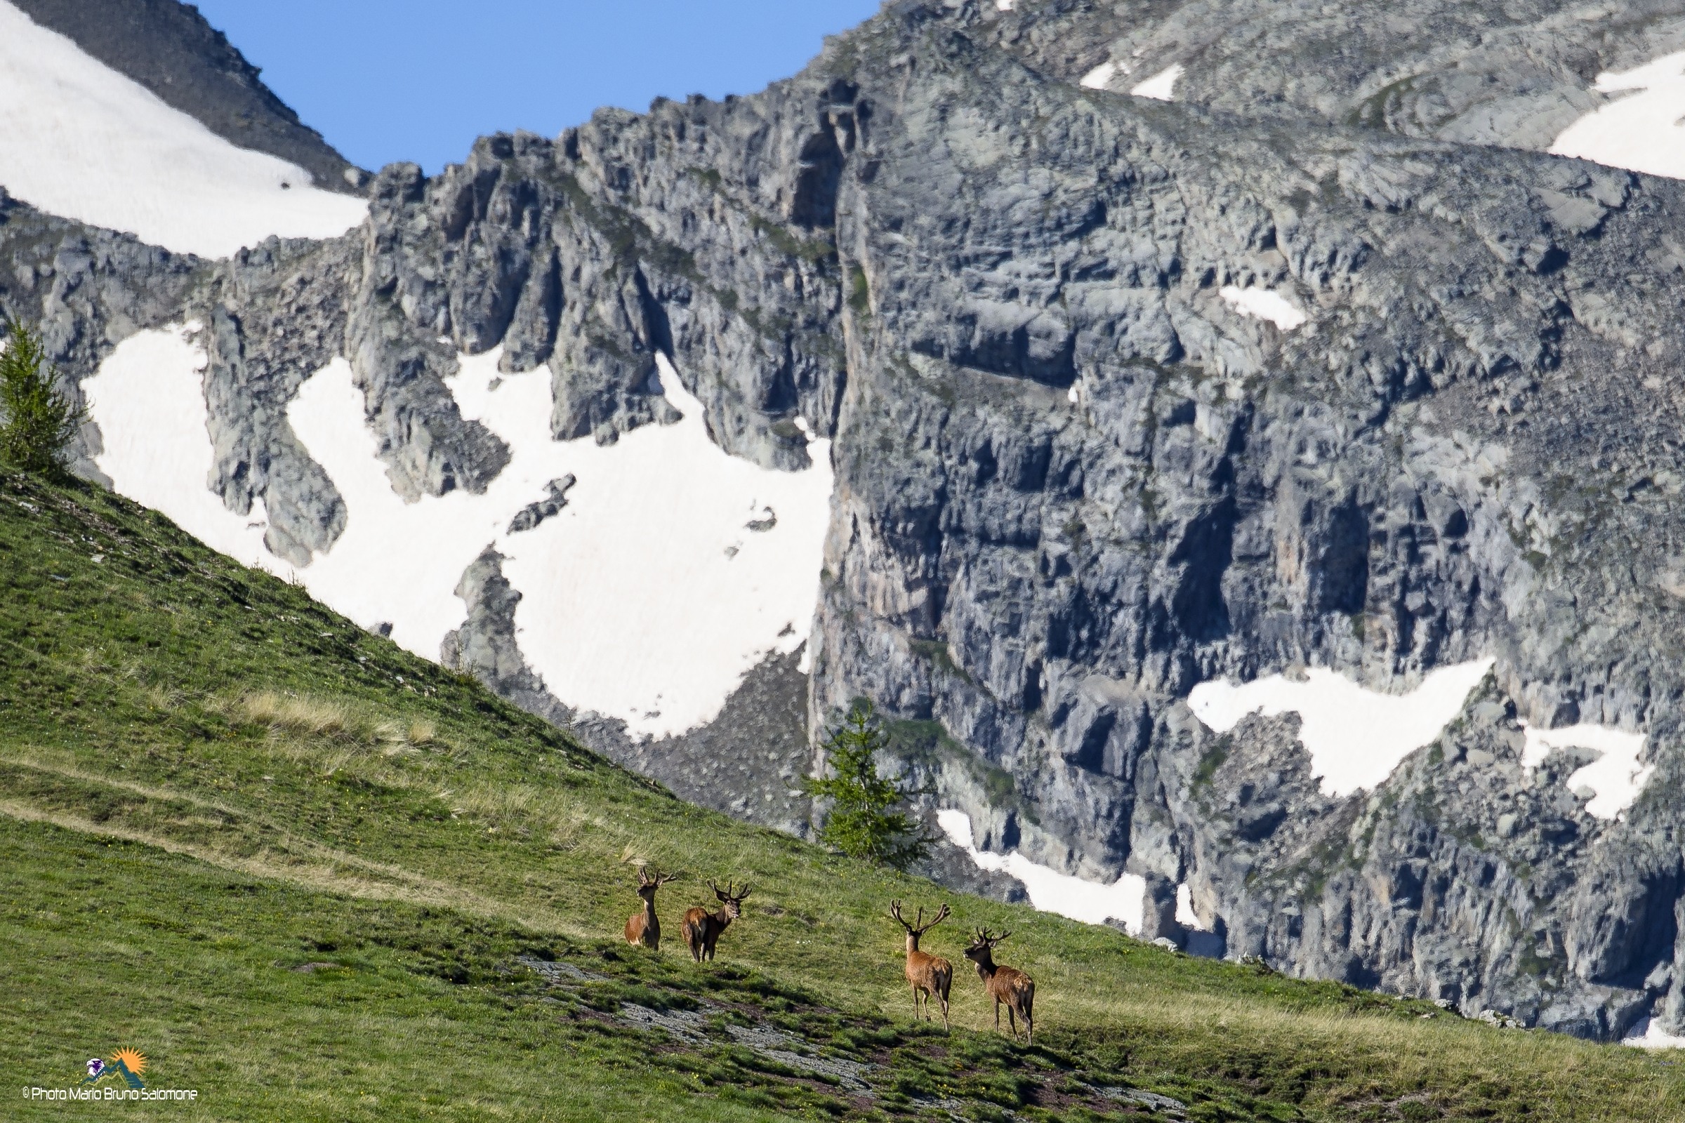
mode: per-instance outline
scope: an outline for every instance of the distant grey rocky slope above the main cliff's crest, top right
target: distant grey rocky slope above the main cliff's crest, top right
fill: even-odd
[[[1599,108],[1599,72],[1685,47],[1672,3],[1013,3],[981,37],[1063,81],[1129,89],[1185,66],[1176,99],[1249,120],[1547,150]],[[1104,69],[1102,69],[1104,67]]]

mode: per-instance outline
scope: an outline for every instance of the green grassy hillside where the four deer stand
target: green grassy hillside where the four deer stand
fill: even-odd
[[[755,882],[629,950],[632,859]],[[955,1032],[890,897],[954,902]],[[959,956],[1006,926],[1033,1049]],[[1666,1057],[1168,955],[679,803],[96,490],[0,475],[0,1057],[148,1054],[194,1120],[1675,1120]],[[649,1019],[659,1019],[672,1032]],[[856,1066],[856,1067],[851,1067]],[[0,1118],[110,1106],[0,1096]],[[1110,1091],[1107,1091],[1110,1089]],[[1129,1098],[1151,1091],[1181,1101]]]

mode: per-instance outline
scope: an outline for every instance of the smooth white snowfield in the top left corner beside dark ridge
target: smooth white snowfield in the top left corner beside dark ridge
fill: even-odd
[[[49,214],[201,258],[335,237],[367,204],[236,148],[0,0],[0,187]]]

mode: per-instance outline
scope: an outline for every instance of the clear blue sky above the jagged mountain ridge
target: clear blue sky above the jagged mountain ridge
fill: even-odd
[[[482,133],[748,94],[878,0],[194,0],[352,163],[438,172]]]

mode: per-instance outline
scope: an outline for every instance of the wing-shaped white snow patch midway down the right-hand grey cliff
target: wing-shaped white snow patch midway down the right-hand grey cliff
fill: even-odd
[[[1311,774],[1321,778],[1323,795],[1343,798],[1382,783],[1404,758],[1431,744],[1491,665],[1483,658],[1441,667],[1409,694],[1367,690],[1323,667],[1304,672],[1303,682],[1282,675],[1238,687],[1201,682],[1188,707],[1213,732],[1228,732],[1247,714],[1297,712]]]

